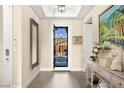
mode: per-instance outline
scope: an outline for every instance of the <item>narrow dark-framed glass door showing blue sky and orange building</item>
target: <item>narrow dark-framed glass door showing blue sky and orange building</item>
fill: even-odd
[[[53,68],[68,67],[68,27],[54,26],[53,33]]]

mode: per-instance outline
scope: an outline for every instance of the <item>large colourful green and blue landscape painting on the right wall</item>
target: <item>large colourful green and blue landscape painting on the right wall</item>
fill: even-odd
[[[99,16],[99,43],[124,45],[124,5],[113,5]]]

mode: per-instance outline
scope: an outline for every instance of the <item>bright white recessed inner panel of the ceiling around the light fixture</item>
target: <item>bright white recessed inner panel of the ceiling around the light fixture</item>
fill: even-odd
[[[46,17],[77,17],[82,6],[63,5],[64,12],[58,11],[58,5],[42,5],[42,10]]]

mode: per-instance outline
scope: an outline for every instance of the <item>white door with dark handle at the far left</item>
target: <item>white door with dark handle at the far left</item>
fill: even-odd
[[[3,6],[4,85],[12,87],[12,6]],[[6,55],[8,50],[9,55]]]

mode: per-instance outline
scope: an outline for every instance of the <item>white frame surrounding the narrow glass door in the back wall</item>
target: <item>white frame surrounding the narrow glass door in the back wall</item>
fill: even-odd
[[[68,46],[67,46],[67,49],[68,49],[68,54],[67,54],[67,61],[68,61],[68,66],[67,67],[54,67],[54,26],[55,27],[67,27],[68,28],[68,32],[67,32],[67,44],[68,44]],[[70,70],[70,62],[69,62],[69,25],[57,25],[57,24],[52,24],[52,32],[53,32],[53,34],[52,34],[52,40],[53,40],[53,48],[52,48],[52,50],[53,50],[53,61],[52,61],[52,68],[53,68],[53,71],[56,71],[56,70],[62,70],[62,71],[65,71],[65,70]]]

